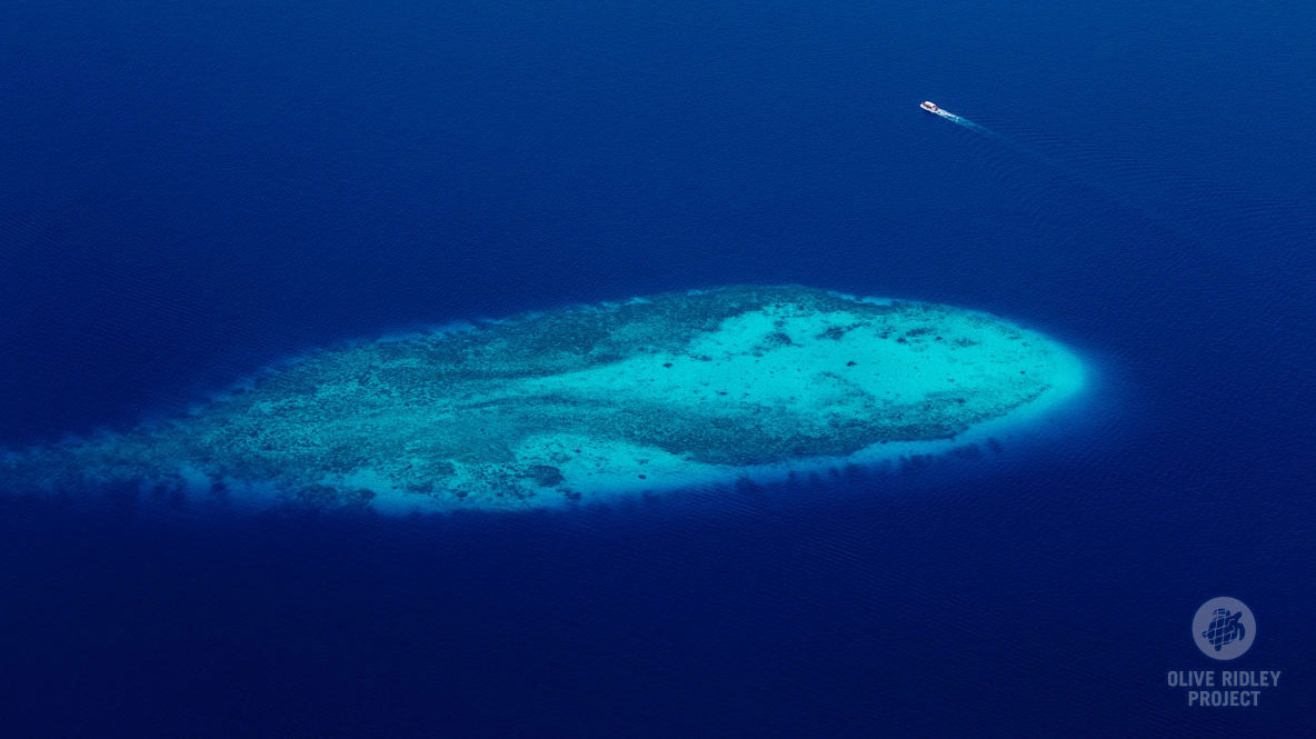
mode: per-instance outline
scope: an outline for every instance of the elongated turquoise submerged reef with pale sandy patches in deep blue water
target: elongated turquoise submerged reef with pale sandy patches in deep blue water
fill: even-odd
[[[0,488],[522,509],[940,448],[1080,383],[994,316],[736,285],[316,351],[167,423],[11,452]]]

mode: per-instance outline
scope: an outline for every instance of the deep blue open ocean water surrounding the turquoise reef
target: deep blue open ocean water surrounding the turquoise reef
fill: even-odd
[[[0,497],[0,731],[1316,734],[1312,38],[1296,1],[7,0],[0,447],[728,283],[990,310],[1092,377],[1029,443],[608,508]],[[1227,664],[1215,596],[1255,614]],[[1225,667],[1283,677],[1167,685]]]

